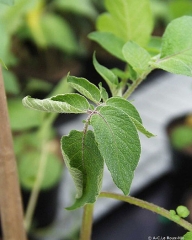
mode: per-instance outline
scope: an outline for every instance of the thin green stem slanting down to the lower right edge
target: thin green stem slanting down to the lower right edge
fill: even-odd
[[[106,197],[106,198],[113,198],[116,200],[124,201],[130,204],[133,204],[135,206],[147,209],[149,211],[152,211],[154,213],[157,213],[165,218],[168,218],[169,220],[179,224],[183,228],[187,229],[188,231],[192,231],[192,224],[187,222],[186,220],[180,218],[179,220],[175,220],[172,218],[170,212],[162,207],[159,207],[153,203],[146,202],[144,200],[131,197],[131,196],[124,196],[116,193],[108,193],[108,192],[102,192],[99,197]]]

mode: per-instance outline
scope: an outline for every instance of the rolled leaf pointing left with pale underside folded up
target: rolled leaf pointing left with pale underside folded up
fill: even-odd
[[[76,93],[57,95],[44,100],[27,96],[22,102],[25,107],[45,112],[86,113],[89,109],[86,98]]]

